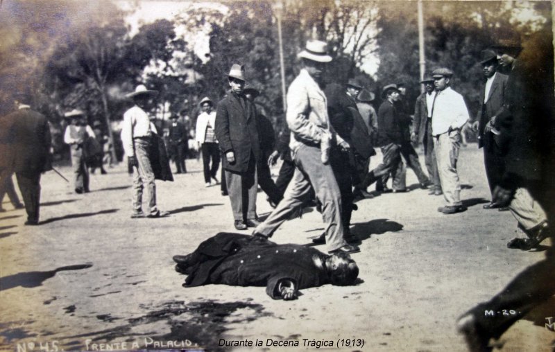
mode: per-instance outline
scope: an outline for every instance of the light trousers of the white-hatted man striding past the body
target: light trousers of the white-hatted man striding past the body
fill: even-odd
[[[308,199],[311,188],[322,204],[322,218],[325,222],[325,239],[328,251],[345,246],[341,222],[341,192],[337,185],[332,166],[321,161],[320,148],[300,146],[293,155],[295,172],[285,190],[283,200],[256,229],[255,233],[271,237],[293,213]]]

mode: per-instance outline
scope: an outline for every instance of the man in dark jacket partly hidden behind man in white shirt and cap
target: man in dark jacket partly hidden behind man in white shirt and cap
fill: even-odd
[[[432,105],[434,103],[434,78],[427,77],[420,81],[426,91],[418,98],[414,105],[414,120],[411,132],[413,143],[422,143],[424,147],[424,160],[428,174],[432,177],[430,195],[442,195],[441,182],[439,181],[436,153],[434,152],[434,139],[432,139]]]

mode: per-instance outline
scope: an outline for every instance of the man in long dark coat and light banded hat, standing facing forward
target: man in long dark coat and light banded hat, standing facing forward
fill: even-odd
[[[216,109],[214,133],[225,155],[223,168],[235,229],[259,225],[256,214],[257,160],[260,159],[255,105],[244,94],[244,68],[231,67],[228,96]]]

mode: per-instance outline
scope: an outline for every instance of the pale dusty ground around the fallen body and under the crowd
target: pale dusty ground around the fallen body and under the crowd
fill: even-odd
[[[336,349],[339,339],[364,340],[344,351],[464,351],[456,317],[543,258],[507,249],[515,220],[481,209],[488,199],[481,161],[475,145],[461,151],[464,213],[438,213],[443,197],[420,189],[359,202],[352,231],[363,239],[362,252],[353,257],[364,282],[303,290],[289,302],[273,301],[264,288],[182,288],[171,256],[233,230],[228,198],[219,186],[204,187],[196,160],[176,182],[157,184],[160,207],[172,213],[162,219],[129,218],[131,178],[123,165],[92,175],[87,195],[47,173],[40,227],[23,227],[24,211],[10,204],[0,214],[0,349],[214,351],[224,349],[222,338],[258,339],[258,349],[276,351],[316,350],[316,342],[328,340]],[[60,170],[71,178],[70,168]],[[260,215],[271,210],[265,198],[259,193]],[[321,229],[321,216],[309,211],[286,222],[274,240],[307,243]],[[555,316],[554,302],[515,324],[501,339],[503,350],[550,351],[555,333],[545,318]],[[266,347],[268,339],[300,345]],[[315,341],[303,346],[303,339]]]

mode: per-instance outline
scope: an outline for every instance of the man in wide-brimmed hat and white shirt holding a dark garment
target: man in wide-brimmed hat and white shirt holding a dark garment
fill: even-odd
[[[151,98],[157,96],[158,91],[146,89],[144,85],[138,85],[133,93],[127,94],[127,98],[133,98],[135,106],[123,114],[123,125],[121,126],[121,142],[123,150],[128,158],[128,163],[133,166],[133,213],[131,218],[143,218],[142,210],[143,188],[146,185],[148,193],[147,218],[160,218],[169,215],[167,211],[160,211],[156,206],[156,184],[155,176],[148,159],[148,152],[153,143],[152,136],[157,133],[156,127],[151,123],[146,110],[151,105]]]

